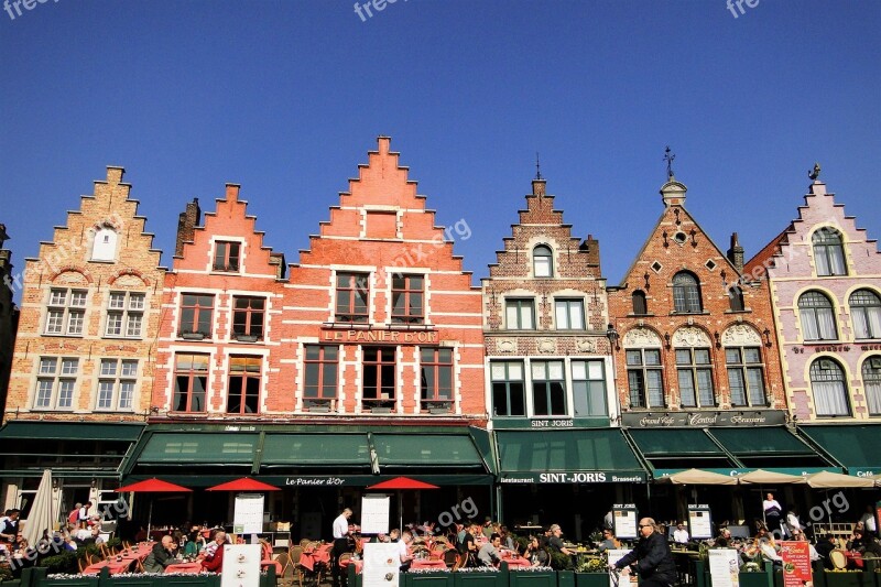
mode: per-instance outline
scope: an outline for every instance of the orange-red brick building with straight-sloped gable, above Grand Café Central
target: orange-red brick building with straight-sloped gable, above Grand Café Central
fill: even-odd
[[[742,272],[736,233],[727,253],[713,242],[685,208],[685,194],[671,175],[657,224],[620,285],[609,289],[620,334],[621,425],[655,478],[692,467],[739,475],[827,465],[783,425],[768,284]],[[652,493],[668,508],[656,515],[685,517],[685,492],[662,486]],[[730,492],[708,499],[717,517],[761,517],[751,510],[759,500],[750,498],[744,511]]]

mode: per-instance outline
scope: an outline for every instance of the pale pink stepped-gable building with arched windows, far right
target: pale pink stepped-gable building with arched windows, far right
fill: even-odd
[[[793,417],[849,472],[871,475],[881,472],[881,253],[818,169],[812,176],[798,217],[747,272],[770,285]]]

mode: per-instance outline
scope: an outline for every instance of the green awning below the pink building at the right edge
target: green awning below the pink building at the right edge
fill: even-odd
[[[881,424],[800,426],[798,432],[828,453],[849,475],[881,475]]]

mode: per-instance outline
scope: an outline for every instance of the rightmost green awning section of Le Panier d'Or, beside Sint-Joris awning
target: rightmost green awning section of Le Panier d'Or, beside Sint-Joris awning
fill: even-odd
[[[372,434],[380,470],[384,467],[486,470],[471,436],[467,434]]]

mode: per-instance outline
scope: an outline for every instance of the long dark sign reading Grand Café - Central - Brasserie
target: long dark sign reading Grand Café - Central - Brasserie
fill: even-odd
[[[770,426],[784,423],[783,410],[700,412],[628,412],[621,425],[632,428],[703,428],[706,426]]]

